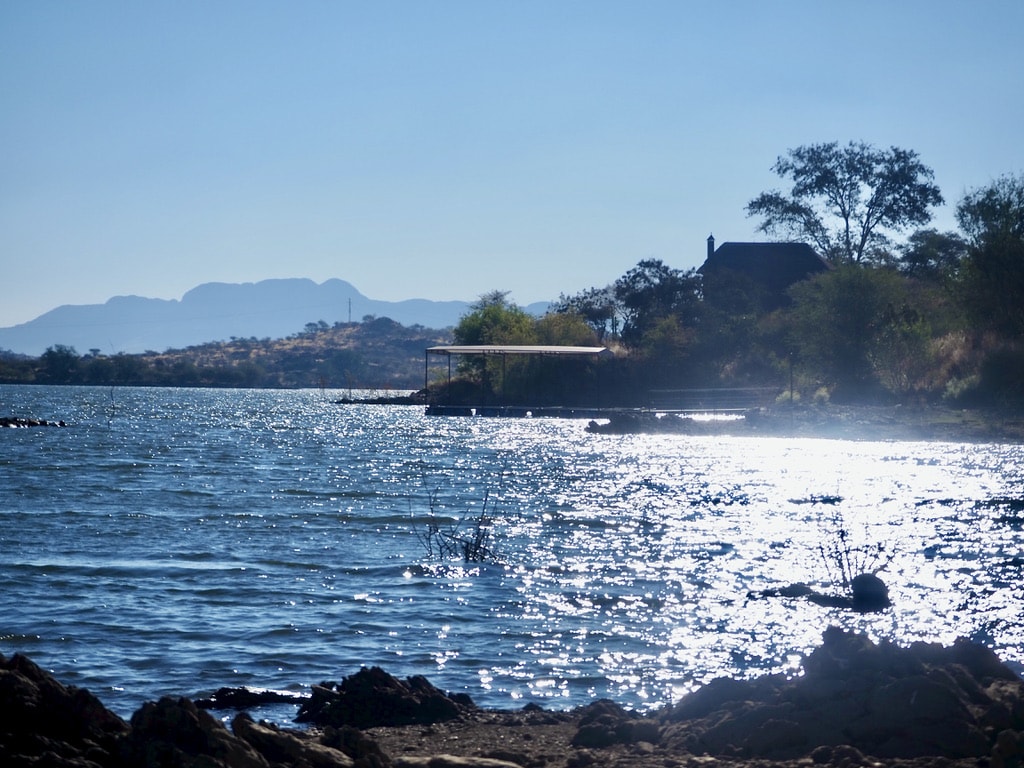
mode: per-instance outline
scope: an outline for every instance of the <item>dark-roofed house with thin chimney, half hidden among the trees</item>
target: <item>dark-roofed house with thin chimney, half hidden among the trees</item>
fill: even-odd
[[[711,236],[708,258],[697,272],[706,300],[731,302],[738,292],[770,311],[788,303],[792,285],[829,268],[806,243],[723,243],[716,249]]]

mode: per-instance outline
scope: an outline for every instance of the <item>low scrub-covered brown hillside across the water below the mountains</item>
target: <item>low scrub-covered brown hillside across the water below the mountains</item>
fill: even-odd
[[[141,354],[80,355],[57,345],[40,357],[0,356],[0,382],[117,386],[421,389],[424,350],[447,331],[388,317],[309,323],[284,339],[232,338]]]

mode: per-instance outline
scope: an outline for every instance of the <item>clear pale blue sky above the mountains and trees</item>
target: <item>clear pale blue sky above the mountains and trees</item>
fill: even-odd
[[[746,203],[823,141],[916,152],[955,229],[1024,171],[1022,29],[1020,0],[5,2],[0,327],[271,278],[553,300],[768,240]]]

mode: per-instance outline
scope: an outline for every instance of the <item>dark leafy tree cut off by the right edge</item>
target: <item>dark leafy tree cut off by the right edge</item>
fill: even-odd
[[[968,238],[965,298],[976,322],[1024,336],[1024,174],[968,193],[956,207]]]

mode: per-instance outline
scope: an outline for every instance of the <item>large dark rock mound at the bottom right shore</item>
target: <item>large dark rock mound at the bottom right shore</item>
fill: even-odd
[[[990,650],[966,641],[902,648],[837,628],[822,640],[802,677],[714,681],[685,696],[663,718],[663,742],[816,762],[841,748],[887,759],[986,759],[1017,750],[1024,681]]]

